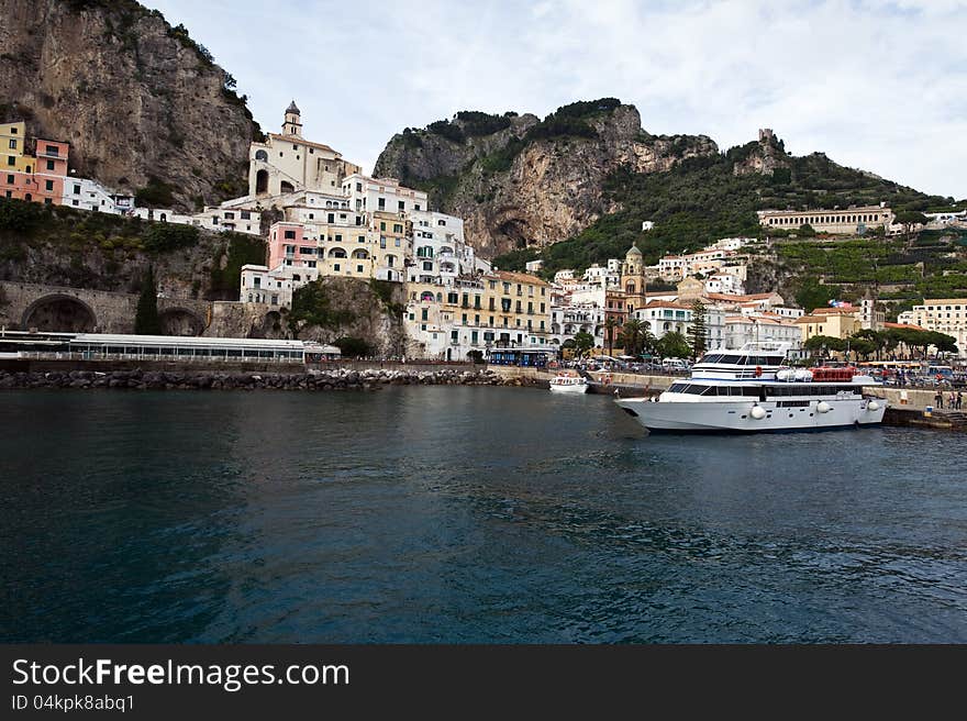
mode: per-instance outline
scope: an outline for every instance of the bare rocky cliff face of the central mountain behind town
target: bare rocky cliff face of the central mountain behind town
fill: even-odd
[[[718,155],[704,135],[656,136],[638,111],[613,98],[535,115],[462,112],[451,121],[394,135],[375,174],[431,192],[431,203],[465,220],[485,256],[555,243],[618,210],[604,181],[619,167],[668,170]]]

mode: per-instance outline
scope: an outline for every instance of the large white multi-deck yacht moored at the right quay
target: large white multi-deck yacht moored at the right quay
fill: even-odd
[[[790,368],[789,343],[715,351],[658,396],[615,402],[649,431],[807,431],[876,425],[887,402],[864,398],[877,384],[854,368]]]

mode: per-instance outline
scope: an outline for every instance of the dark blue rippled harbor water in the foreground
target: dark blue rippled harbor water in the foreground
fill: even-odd
[[[455,386],[0,402],[3,642],[967,642],[964,435]]]

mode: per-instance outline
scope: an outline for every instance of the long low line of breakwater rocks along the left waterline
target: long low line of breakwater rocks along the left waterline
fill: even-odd
[[[142,390],[376,390],[384,386],[531,386],[527,378],[504,378],[479,370],[347,370],[333,368],[304,373],[238,373],[219,370],[62,370],[0,371],[4,388],[132,388]],[[546,386],[546,384],[545,384]]]

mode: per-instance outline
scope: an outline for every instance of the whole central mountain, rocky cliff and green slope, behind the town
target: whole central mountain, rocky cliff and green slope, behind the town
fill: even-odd
[[[623,257],[654,263],[730,235],[755,235],[765,208],[894,210],[947,206],[822,153],[796,157],[771,130],[720,153],[704,135],[656,136],[613,98],[534,115],[460,112],[394,135],[376,165],[466,219],[467,239],[504,269],[541,257],[544,273]],[[642,231],[652,221],[653,230]]]

